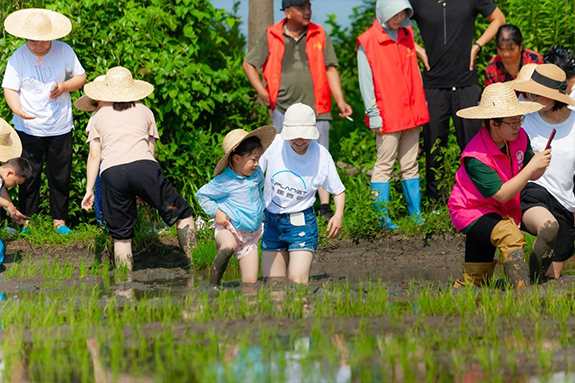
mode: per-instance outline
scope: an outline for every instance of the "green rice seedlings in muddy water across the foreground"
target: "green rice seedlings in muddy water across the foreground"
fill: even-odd
[[[21,294],[2,307],[6,371],[24,364],[32,380],[93,381],[92,338],[112,380],[281,382],[295,369],[331,381],[348,369],[354,381],[503,381],[573,371],[557,362],[575,346],[573,291],[412,283],[399,299],[392,287],[264,285],[253,295],[192,289],[126,300],[98,284]]]

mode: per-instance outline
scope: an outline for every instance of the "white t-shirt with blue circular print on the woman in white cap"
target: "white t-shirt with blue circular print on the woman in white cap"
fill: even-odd
[[[278,134],[260,158],[266,172],[264,200],[273,214],[297,213],[313,206],[317,189],[330,194],[345,191],[328,150],[311,141],[304,155]]]

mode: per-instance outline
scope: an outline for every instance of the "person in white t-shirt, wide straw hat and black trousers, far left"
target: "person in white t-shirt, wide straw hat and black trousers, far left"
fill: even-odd
[[[2,87],[22,140],[22,156],[32,175],[20,186],[19,202],[27,216],[38,213],[40,181],[46,160],[50,214],[59,234],[66,226],[72,172],[70,92],[86,83],[84,68],[72,48],[56,39],[72,30],[70,20],[46,9],[22,9],[4,21],[6,32],[26,39],[10,57]]]

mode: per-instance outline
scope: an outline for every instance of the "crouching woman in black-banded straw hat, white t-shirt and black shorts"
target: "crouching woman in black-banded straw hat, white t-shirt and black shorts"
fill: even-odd
[[[533,265],[539,269],[531,277],[540,281],[559,278],[565,261],[575,251],[575,112],[567,107],[575,105],[575,101],[566,93],[565,72],[554,64],[539,65],[529,81],[512,85],[515,90],[525,92],[528,100],[544,106],[539,112],[525,116],[523,129],[533,150],[545,150],[549,136],[556,130],[548,169],[521,192],[521,221],[529,233],[537,235],[530,269]]]

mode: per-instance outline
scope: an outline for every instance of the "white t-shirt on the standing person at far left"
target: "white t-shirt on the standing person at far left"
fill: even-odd
[[[37,137],[66,134],[72,124],[70,93],[64,92],[56,99],[49,98],[50,88],[57,81],[64,82],[84,74],[84,68],[72,48],[61,41],[52,41],[50,51],[38,57],[22,45],[14,52],[6,66],[2,87],[15,90],[25,112],[36,116],[23,120],[14,115],[16,130]]]

